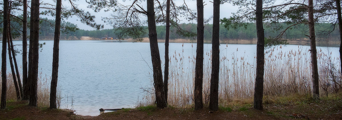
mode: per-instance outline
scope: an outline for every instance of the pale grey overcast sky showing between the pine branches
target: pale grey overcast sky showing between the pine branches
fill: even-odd
[[[49,2],[50,1],[50,2]],[[46,3],[50,3],[50,4],[56,4],[54,3],[52,0],[44,0],[44,2]],[[119,1],[122,4],[132,4],[132,0],[126,0],[125,2],[123,1]],[[182,4],[183,2],[187,3],[188,7],[192,10],[196,10],[196,0],[174,0],[175,4]],[[210,0],[203,0],[205,6],[204,6],[204,17],[205,18],[210,18],[213,15],[213,3],[212,0],[210,2]],[[103,10],[100,12],[95,13],[92,9],[87,8],[88,3],[86,2],[86,0],[78,0],[74,2],[75,4],[77,4],[77,6],[80,9],[89,11],[92,15],[95,15],[95,22],[98,24],[102,24],[104,25],[104,29],[112,29],[113,26],[111,25],[107,25],[106,23],[104,23],[101,18],[104,16],[108,16],[109,14],[111,14],[110,11],[108,12],[104,12]],[[68,1],[62,1],[62,4],[64,6],[67,6],[69,4]],[[140,6],[142,6],[145,10],[146,10],[146,1],[142,1]],[[42,7],[42,6],[41,6]],[[224,17],[229,17],[232,15],[232,13],[234,13],[235,11],[238,10],[238,6],[233,6],[232,4],[229,3],[223,3],[220,6],[220,18],[224,18]],[[41,16],[41,17],[48,17],[49,19],[54,19],[54,17],[51,16]],[[182,18],[181,18],[182,19]],[[68,19],[65,19],[65,21],[69,21],[70,23],[76,24],[78,26],[79,29],[84,29],[84,30],[94,30],[94,28],[89,27],[83,23],[81,23],[79,21],[79,19],[74,16]],[[196,23],[196,21],[188,21],[186,19],[183,18],[183,20],[180,23]],[[212,20],[209,21],[209,24],[212,24]]]

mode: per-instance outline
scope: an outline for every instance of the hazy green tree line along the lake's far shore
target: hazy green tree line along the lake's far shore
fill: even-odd
[[[40,35],[41,36],[53,36],[53,32],[54,32],[54,28],[52,27],[48,27],[48,26],[43,26],[43,25],[47,25],[44,23],[45,21],[43,21],[41,30],[40,30]],[[52,22],[53,23],[53,22]],[[65,23],[68,26],[75,26],[74,24],[71,23]],[[264,23],[264,26],[267,26],[267,23]],[[284,26],[284,29],[286,28],[286,24],[283,24],[282,26]],[[188,23],[188,24],[179,24],[179,27],[181,27],[183,30],[186,31],[191,31],[191,32],[196,32],[197,29],[197,24],[194,23]],[[320,23],[317,24],[316,26],[317,31],[328,31],[330,29],[332,29],[333,24],[330,23]],[[204,27],[204,40],[205,41],[211,41],[212,40],[212,24],[205,24]],[[303,40],[305,38],[307,38],[307,36],[305,36],[303,33],[303,31],[308,31],[304,25],[301,27],[302,29],[292,29],[290,31],[286,32],[286,35],[284,36],[284,39],[287,40]],[[165,39],[165,35],[166,35],[166,27],[163,25],[160,26],[156,26],[157,29],[157,37],[158,39]],[[269,36],[276,36],[278,34],[278,32],[281,30],[277,30],[275,31],[274,28],[272,27],[265,27],[265,37],[269,37]],[[146,27],[146,31],[147,31],[147,27]],[[176,33],[177,28],[176,27],[170,27],[170,39],[189,39],[189,40],[194,40],[196,41],[196,36],[195,37],[187,37],[187,36],[183,36],[180,34]],[[71,31],[68,33],[63,33],[62,35],[64,36],[76,36],[76,37],[80,37],[80,36],[90,36],[93,38],[98,38],[100,39],[101,37],[113,37],[114,39],[116,39],[116,37],[119,37],[119,30],[115,30],[115,29],[103,29],[103,30],[76,30],[76,31]],[[145,35],[143,35],[144,37],[148,37],[148,33],[146,33]],[[339,41],[339,30],[335,29],[333,30],[329,36],[326,35],[317,35],[318,39],[323,39],[323,40],[327,40],[327,38],[329,38],[328,40],[330,41]],[[124,36],[124,38],[130,38],[130,36]],[[119,37],[120,39],[120,37]],[[229,40],[254,40],[257,39],[257,29],[255,28],[255,23],[250,23],[249,25],[245,26],[245,27],[238,27],[237,29],[226,29],[224,27],[223,24],[220,24],[220,41],[229,41]]]

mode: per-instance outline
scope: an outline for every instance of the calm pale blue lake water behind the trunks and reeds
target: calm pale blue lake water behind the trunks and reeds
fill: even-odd
[[[39,72],[50,78],[53,41],[39,42],[46,43],[39,52]],[[22,41],[13,43],[22,44]],[[164,43],[158,45],[163,64]],[[21,46],[16,47],[21,50]],[[338,47],[329,47],[332,57],[339,57]],[[204,48],[206,54],[211,44],[205,44]],[[307,52],[310,46],[286,45],[282,46],[282,51],[299,48]],[[250,63],[255,61],[256,45],[253,44],[221,44],[220,50],[221,56],[227,58],[233,55],[245,57]],[[170,57],[175,54],[186,59],[196,56],[196,43],[170,43]],[[18,66],[22,65],[21,57],[21,54],[17,55]],[[7,71],[10,72],[7,63]],[[58,87],[62,89],[62,103],[65,103],[62,108],[74,109],[80,115],[96,116],[100,114],[100,108],[134,107],[143,92],[141,88],[151,86],[153,73],[150,67],[149,43],[60,41]]]

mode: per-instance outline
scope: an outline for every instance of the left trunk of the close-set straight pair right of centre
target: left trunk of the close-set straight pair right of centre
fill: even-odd
[[[203,39],[204,39],[204,20],[203,20],[203,0],[197,0],[197,49],[195,65],[195,110],[203,108]]]

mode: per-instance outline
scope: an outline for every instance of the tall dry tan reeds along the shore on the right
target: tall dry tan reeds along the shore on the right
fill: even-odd
[[[228,45],[226,45],[228,48]],[[284,46],[265,50],[264,99],[278,96],[307,96],[312,94],[312,72],[310,51],[298,46],[298,49],[284,51]],[[245,56],[231,52],[231,58],[221,56],[219,79],[219,104],[228,102],[251,102],[254,94],[256,59],[248,61]],[[236,50],[238,51],[238,49]],[[341,90],[341,70],[339,58],[332,58],[331,51],[319,49],[318,64],[320,93],[332,94]],[[222,54],[221,54],[222,55]],[[183,56],[176,53],[170,57],[168,104],[175,107],[187,107],[193,103],[195,56]],[[204,56],[203,64],[203,102],[208,104],[211,77],[211,51]],[[150,92],[143,95],[138,105],[154,104],[153,83]],[[267,100],[265,100],[267,101]]]

